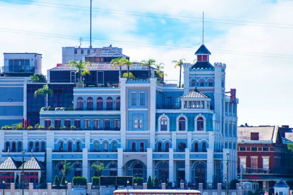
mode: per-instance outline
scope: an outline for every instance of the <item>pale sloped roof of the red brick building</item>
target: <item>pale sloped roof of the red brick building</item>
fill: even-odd
[[[276,143],[278,129],[278,126],[238,127],[238,141],[251,140],[251,133],[258,133],[258,140],[272,141],[272,143]]]

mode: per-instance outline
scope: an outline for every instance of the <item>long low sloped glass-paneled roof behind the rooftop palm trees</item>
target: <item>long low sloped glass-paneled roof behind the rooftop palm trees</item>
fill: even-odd
[[[115,68],[113,68],[113,64],[111,64],[110,62],[92,62],[91,65],[87,65],[86,66],[87,70],[119,70],[119,66],[116,66]],[[121,66],[121,69],[127,70],[126,66]],[[154,69],[154,68],[152,68]],[[63,71],[63,70],[77,70],[76,67],[68,65],[68,63],[62,64],[60,66],[56,66],[52,69],[50,69],[52,71]],[[130,68],[130,71],[132,70],[148,70],[148,67],[146,67],[143,64],[134,62]]]

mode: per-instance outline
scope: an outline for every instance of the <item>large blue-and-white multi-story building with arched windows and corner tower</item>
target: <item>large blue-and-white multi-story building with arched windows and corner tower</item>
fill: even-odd
[[[104,47],[84,56],[91,62],[84,86],[68,63],[48,70],[48,106],[34,91],[45,83],[25,84],[26,116],[44,130],[0,131],[0,157],[32,156],[45,163],[46,180],[61,176],[64,160],[68,174],[90,178],[90,168],[104,163],[105,176],[158,176],[162,182],[216,183],[236,176],[237,103],[235,90],[225,91],[226,64],[209,63],[202,45],[195,64],[184,63],[184,88],[155,78],[155,70],[133,63],[135,79],[121,78],[113,58],[129,57],[120,49]],[[68,60],[68,59],[66,59]],[[127,71],[122,66],[122,74]],[[230,96],[226,94],[230,93]],[[64,109],[56,108],[64,107]],[[39,108],[39,110],[38,110]],[[28,111],[30,109],[30,111]],[[31,113],[31,114],[29,114]],[[61,130],[62,129],[62,130]],[[16,145],[18,147],[16,147]]]

